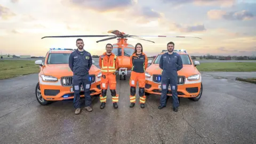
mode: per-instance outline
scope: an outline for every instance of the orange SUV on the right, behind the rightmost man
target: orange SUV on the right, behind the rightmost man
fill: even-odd
[[[151,65],[146,69],[145,73],[146,95],[162,94],[161,76],[163,70],[159,67],[159,60],[164,52],[167,52],[167,50],[163,50],[161,53],[159,53],[153,60],[153,63],[152,60],[148,61],[148,63]],[[183,63],[183,68],[178,71],[178,97],[189,98],[190,100],[198,101],[201,98],[203,92],[202,76],[196,68],[196,66],[200,65],[200,63],[198,61],[193,62],[186,50],[174,50],[173,52],[180,54]],[[167,95],[172,95],[170,85]]]

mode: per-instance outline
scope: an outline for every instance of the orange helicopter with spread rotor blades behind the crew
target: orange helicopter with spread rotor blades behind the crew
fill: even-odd
[[[109,37],[105,39],[101,39],[99,41],[96,41],[97,43],[102,42],[102,41],[108,41],[110,39],[115,39],[117,38],[117,43],[113,44],[113,50],[112,52],[117,56],[117,60],[119,62],[119,68],[117,69],[119,71],[119,79],[120,80],[126,80],[126,75],[127,71],[131,70],[132,67],[130,65],[130,57],[133,54],[135,47],[129,43],[127,43],[127,38],[136,38],[136,39],[141,39],[143,41],[148,41],[151,43],[155,43],[153,41],[149,41],[147,39],[143,39],[141,37],[189,37],[189,36],[161,36],[161,35],[156,35],[156,36],[138,36],[138,35],[128,35],[125,34],[124,32],[121,32],[119,30],[109,30],[108,33],[114,34],[114,35],[69,35],[69,36],[45,36],[43,38],[57,38],[57,37]],[[190,38],[199,38],[199,37],[190,37]],[[199,38],[202,39],[202,38]]]

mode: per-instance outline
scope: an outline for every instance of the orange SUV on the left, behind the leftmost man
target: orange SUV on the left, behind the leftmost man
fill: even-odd
[[[35,64],[40,66],[36,99],[41,105],[47,105],[51,101],[74,98],[73,72],[68,66],[69,55],[73,51],[75,49],[50,49],[43,61],[35,61]],[[92,82],[91,95],[99,95],[101,93],[101,70],[92,65],[89,74]],[[84,97],[83,90],[83,85],[81,85],[81,97]]]

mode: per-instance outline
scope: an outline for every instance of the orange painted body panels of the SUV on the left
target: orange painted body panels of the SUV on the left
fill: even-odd
[[[51,53],[71,53],[72,51],[51,51]],[[44,100],[46,101],[60,101],[65,99],[73,99],[74,92],[73,86],[63,85],[63,77],[69,77],[69,81],[71,77],[73,77],[73,72],[69,68],[68,64],[47,64],[49,52],[46,54],[44,65],[40,67],[40,72],[38,74],[39,87],[41,90],[41,94]],[[100,89],[100,81],[101,81],[101,70],[96,66],[92,65],[89,70],[89,74],[95,77],[94,82],[91,84],[91,95],[99,95],[101,93]],[[58,78],[56,82],[43,81],[41,75],[53,76]],[[97,77],[100,75],[99,77]],[[66,79],[66,81],[67,81]],[[66,83],[66,82],[65,82]],[[51,93],[52,91],[52,93]],[[55,91],[55,92],[53,92]],[[84,97],[83,91],[81,91],[81,97]]]

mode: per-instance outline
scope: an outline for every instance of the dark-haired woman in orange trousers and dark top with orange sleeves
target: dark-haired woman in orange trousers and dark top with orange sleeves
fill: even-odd
[[[130,65],[132,66],[131,78],[130,78],[130,107],[134,107],[135,105],[135,94],[136,94],[136,86],[137,82],[139,82],[139,95],[140,95],[140,107],[145,108],[145,70],[148,67],[148,58],[145,53],[143,53],[143,48],[140,43],[135,45],[135,51],[130,57]]]

